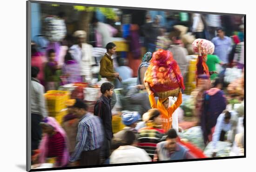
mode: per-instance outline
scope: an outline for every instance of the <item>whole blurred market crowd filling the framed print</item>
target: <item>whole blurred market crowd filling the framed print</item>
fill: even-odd
[[[244,155],[243,16],[93,15],[69,34],[63,15],[31,43],[32,168]]]

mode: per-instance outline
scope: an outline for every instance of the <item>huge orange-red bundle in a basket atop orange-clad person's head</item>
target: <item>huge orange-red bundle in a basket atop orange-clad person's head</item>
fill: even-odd
[[[155,96],[161,99],[177,97],[180,89],[185,89],[180,68],[172,53],[162,49],[153,53],[144,82],[148,82]]]

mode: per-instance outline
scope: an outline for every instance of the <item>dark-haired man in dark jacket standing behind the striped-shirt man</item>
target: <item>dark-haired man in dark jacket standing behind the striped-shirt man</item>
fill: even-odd
[[[110,156],[112,131],[111,97],[114,93],[114,86],[108,82],[101,85],[101,97],[94,106],[94,115],[101,118],[104,127],[104,142],[101,148],[101,163],[108,161]]]

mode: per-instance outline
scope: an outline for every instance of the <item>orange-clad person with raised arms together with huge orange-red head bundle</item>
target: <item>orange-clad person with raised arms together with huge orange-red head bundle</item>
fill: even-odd
[[[172,127],[173,112],[182,104],[181,88],[185,89],[181,71],[171,52],[160,49],[153,53],[144,82],[151,108],[160,111],[162,129],[168,131]],[[157,103],[154,96],[159,98]],[[169,96],[177,97],[176,102],[170,107]]]

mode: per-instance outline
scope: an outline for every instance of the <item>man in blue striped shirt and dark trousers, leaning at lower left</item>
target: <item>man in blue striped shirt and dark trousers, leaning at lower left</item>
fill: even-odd
[[[86,104],[76,99],[74,112],[80,117],[76,146],[74,153],[69,158],[71,166],[80,159],[80,165],[99,165],[101,162],[100,148],[104,139],[101,119],[87,112]]]

